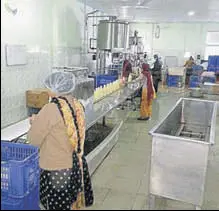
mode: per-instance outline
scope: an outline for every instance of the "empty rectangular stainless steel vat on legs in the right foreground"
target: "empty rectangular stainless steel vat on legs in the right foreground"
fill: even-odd
[[[181,98],[150,131],[150,209],[155,196],[202,206],[216,113],[215,101]]]

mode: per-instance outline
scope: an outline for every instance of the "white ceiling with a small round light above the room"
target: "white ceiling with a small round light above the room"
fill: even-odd
[[[219,0],[86,0],[86,2],[92,8],[129,21],[219,22]],[[194,15],[189,16],[188,12],[191,11]]]

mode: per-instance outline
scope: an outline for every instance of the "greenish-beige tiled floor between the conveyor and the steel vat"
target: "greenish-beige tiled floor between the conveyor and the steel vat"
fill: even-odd
[[[153,118],[148,122],[137,121],[139,111],[128,113],[118,143],[92,176],[95,204],[89,209],[147,209],[151,153],[148,131],[178,99],[177,95],[159,94],[154,101]],[[219,114],[216,128],[216,144],[209,156],[203,209],[219,209]],[[156,208],[194,209],[191,205],[161,198],[156,199]]]

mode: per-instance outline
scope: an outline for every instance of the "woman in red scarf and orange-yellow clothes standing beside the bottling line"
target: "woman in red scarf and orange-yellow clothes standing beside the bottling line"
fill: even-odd
[[[142,94],[141,94],[141,108],[140,108],[140,118],[138,120],[149,120],[152,116],[152,102],[156,98],[153,79],[149,71],[149,64],[142,65]]]

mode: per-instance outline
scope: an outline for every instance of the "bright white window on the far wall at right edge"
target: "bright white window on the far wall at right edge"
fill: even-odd
[[[205,47],[205,59],[208,56],[219,55],[219,32],[208,32]]]

